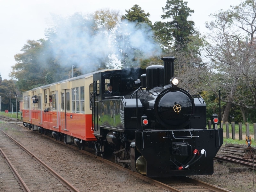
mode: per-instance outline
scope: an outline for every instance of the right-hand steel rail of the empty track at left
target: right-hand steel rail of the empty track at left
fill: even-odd
[[[37,156],[35,156],[33,153],[31,153],[27,148],[23,147],[18,141],[13,139],[11,136],[9,136],[7,133],[5,133],[3,130],[2,131],[7,137],[9,137],[12,141],[14,141],[17,145],[19,145],[22,149],[24,149],[30,156],[32,156],[36,161],[38,161],[40,164],[42,164],[46,170],[51,172],[57,179],[59,179],[68,190],[71,192],[80,192],[78,189],[76,189],[71,183],[69,183],[67,180],[65,180],[63,177],[61,177],[57,172],[52,170],[48,165],[46,165],[43,161],[41,161]]]

